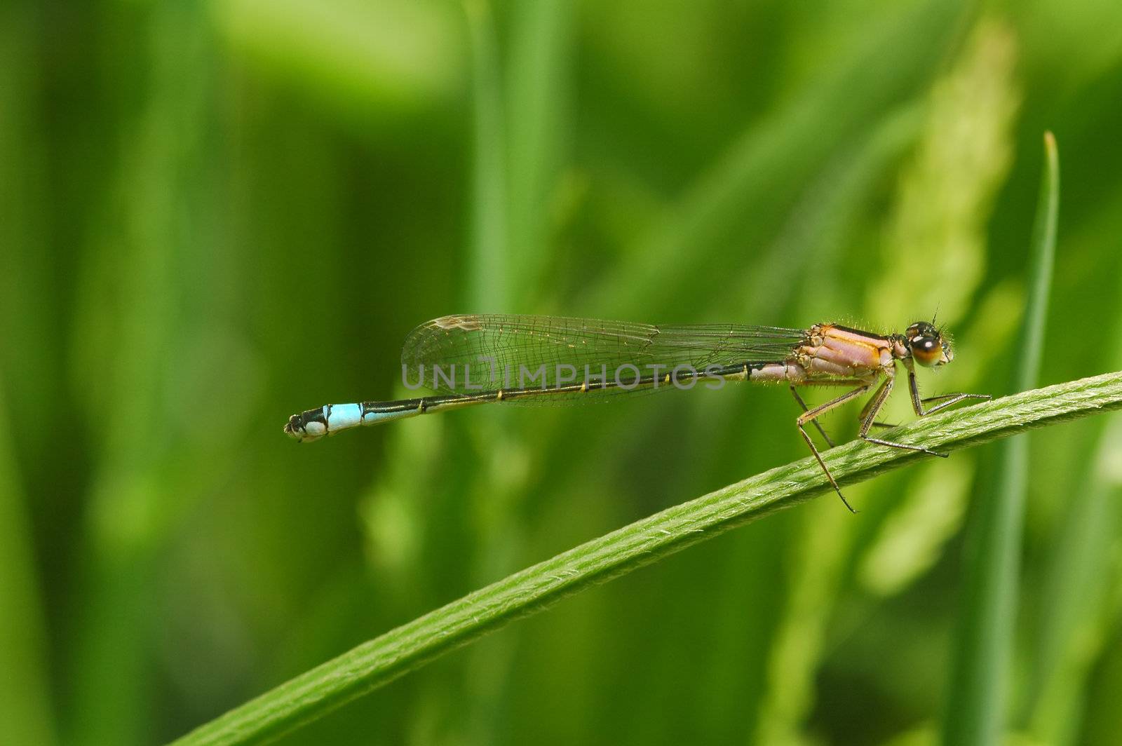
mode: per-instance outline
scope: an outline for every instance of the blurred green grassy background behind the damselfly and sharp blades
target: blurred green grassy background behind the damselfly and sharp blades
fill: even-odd
[[[1116,0],[4,3],[10,743],[174,738],[806,455],[748,387],[283,436],[401,395],[426,319],[938,310],[957,357],[926,389],[1010,393],[1046,129],[1049,384],[1122,368]],[[1122,421],[1032,439],[1010,733],[1116,743]],[[282,743],[936,743],[993,460],[770,516]]]

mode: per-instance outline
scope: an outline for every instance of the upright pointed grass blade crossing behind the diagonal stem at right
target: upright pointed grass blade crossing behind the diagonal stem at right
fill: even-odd
[[[1028,265],[1029,297],[1018,337],[1014,380],[1018,390],[1034,386],[1039,376],[1058,211],[1059,162],[1056,139],[1047,132],[1040,201]],[[946,744],[987,746],[1002,738],[1015,633],[1028,446],[1023,438],[1002,444],[994,489],[978,498],[977,523],[969,537],[950,693],[944,716]]]

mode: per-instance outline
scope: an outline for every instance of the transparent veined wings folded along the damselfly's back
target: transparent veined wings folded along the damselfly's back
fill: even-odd
[[[629,380],[655,371],[665,375],[679,366],[701,371],[707,366],[783,360],[803,333],[799,329],[737,324],[652,325],[565,316],[456,315],[434,319],[410,332],[402,366],[408,381],[423,380],[445,394],[555,389],[586,378],[611,380],[617,371]],[[627,392],[592,389],[572,397]],[[514,403],[549,404],[572,397],[558,393]]]

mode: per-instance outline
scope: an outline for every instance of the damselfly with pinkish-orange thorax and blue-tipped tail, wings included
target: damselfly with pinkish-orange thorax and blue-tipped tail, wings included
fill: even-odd
[[[408,388],[422,385],[436,396],[396,402],[328,404],[295,414],[284,430],[312,441],[340,430],[375,425],[420,414],[476,404],[541,405],[636,392],[720,388],[727,380],[785,384],[802,408],[795,427],[838,497],[850,510],[807,425],[827,412],[873,392],[858,415],[858,436],[879,445],[946,457],[922,445],[870,435],[891,427],[876,420],[892,392],[896,363],[908,371],[912,408],[918,416],[986,394],[942,394],[921,398],[916,365],[950,362],[950,341],[935,323],[918,321],[902,334],[875,334],[839,324],[809,329],[739,324],[651,325],[563,316],[456,315],[421,324],[405,339],[402,377]],[[813,408],[800,386],[845,386],[849,390]],[[925,408],[925,405],[932,405]]]

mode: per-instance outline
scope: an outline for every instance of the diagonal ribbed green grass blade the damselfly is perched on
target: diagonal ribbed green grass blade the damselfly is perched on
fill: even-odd
[[[1122,372],[923,417],[894,430],[893,439],[953,451],[1116,408],[1122,408]],[[917,458],[861,442],[838,446],[828,455],[834,475],[847,485]],[[827,491],[821,470],[807,458],[675,505],[364,643],[201,726],[178,743],[241,744],[279,736],[565,596]]]

